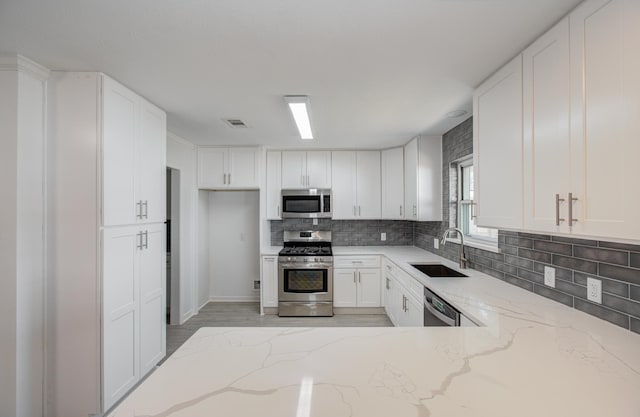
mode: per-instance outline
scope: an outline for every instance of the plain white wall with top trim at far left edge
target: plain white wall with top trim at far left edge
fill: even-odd
[[[0,415],[43,415],[48,70],[0,57]]]

